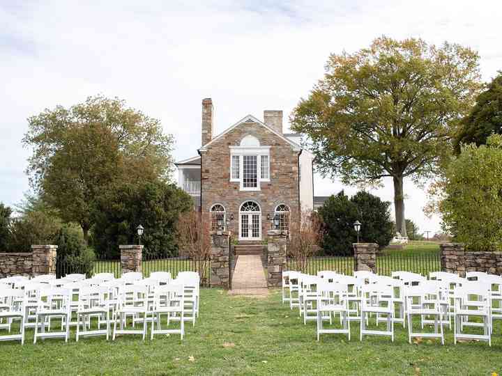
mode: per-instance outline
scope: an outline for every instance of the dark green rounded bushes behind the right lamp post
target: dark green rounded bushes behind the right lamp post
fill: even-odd
[[[377,196],[360,191],[350,199],[340,191],[330,196],[319,208],[323,237],[321,247],[328,255],[351,255],[352,244],[357,242],[353,223],[361,222],[359,241],[387,246],[393,237],[393,222],[390,220],[390,203]]]

